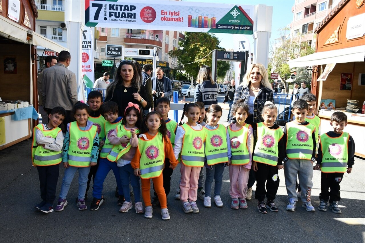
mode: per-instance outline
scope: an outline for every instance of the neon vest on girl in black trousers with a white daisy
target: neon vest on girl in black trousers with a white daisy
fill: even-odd
[[[280,127],[270,129],[263,122],[257,123],[257,142],[253,161],[276,166],[279,157],[277,145],[283,135],[284,132]]]

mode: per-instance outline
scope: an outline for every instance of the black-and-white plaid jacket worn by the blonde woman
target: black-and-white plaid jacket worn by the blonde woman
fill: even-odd
[[[237,100],[243,99],[245,100],[245,103],[249,101],[250,97],[250,88],[249,86],[243,86],[240,85],[236,89],[236,92],[234,93],[234,99],[233,99],[233,105],[237,102]],[[265,88],[263,85],[261,85],[261,89],[258,92],[253,105],[253,122],[259,123],[264,121],[262,118],[261,112],[262,108],[264,108],[265,102],[271,101],[274,103],[273,99],[273,91],[271,89]],[[234,115],[230,114],[230,123],[231,121],[235,120]]]

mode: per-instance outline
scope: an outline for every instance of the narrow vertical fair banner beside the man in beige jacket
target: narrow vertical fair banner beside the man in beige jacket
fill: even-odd
[[[82,31],[82,63],[81,73],[85,85],[89,88],[94,86],[94,53],[91,28]]]

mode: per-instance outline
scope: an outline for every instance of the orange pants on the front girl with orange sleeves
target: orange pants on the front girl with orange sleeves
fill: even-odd
[[[157,193],[158,200],[160,201],[161,209],[167,208],[166,202],[166,193],[164,189],[164,178],[162,177],[162,173],[160,176],[152,178],[153,185],[155,186],[155,192]],[[151,179],[143,179],[141,178],[142,183],[142,198],[145,202],[145,206],[151,206]]]

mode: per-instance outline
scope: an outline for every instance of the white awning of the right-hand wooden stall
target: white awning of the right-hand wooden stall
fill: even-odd
[[[328,63],[364,62],[365,45],[340,50],[316,52],[289,61],[289,67],[306,67]]]

